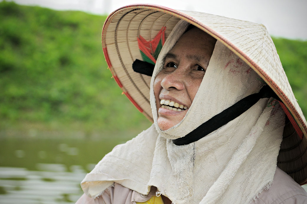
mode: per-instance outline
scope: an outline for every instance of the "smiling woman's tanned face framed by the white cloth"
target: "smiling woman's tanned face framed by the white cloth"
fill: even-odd
[[[163,60],[153,91],[157,104],[157,123],[161,130],[178,124],[191,106],[208,67],[216,40],[192,28],[177,41]]]

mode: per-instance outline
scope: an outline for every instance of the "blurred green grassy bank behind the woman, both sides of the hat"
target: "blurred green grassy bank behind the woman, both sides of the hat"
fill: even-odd
[[[107,70],[101,48],[105,18],[0,2],[1,130],[91,135],[150,126]],[[273,40],[307,115],[307,41]]]

